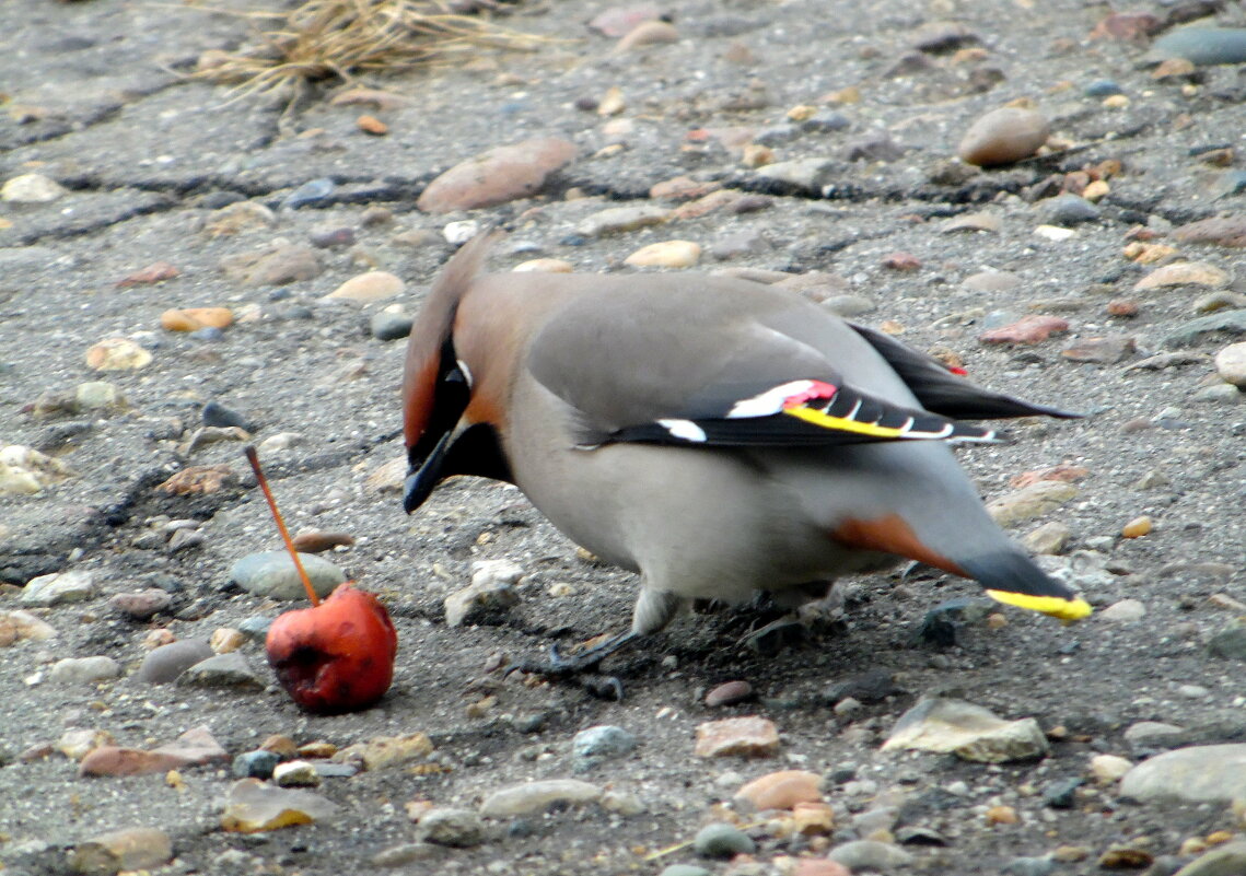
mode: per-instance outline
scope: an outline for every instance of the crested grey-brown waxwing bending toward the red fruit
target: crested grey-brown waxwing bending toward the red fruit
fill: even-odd
[[[404,508],[447,477],[518,486],[573,542],[637,572],[628,629],[588,670],[694,601],[799,604],[903,558],[1065,622],[1090,606],[1003,533],[948,445],[971,420],[1079,416],[782,289],[694,273],[482,272],[464,244],[412,325]]]

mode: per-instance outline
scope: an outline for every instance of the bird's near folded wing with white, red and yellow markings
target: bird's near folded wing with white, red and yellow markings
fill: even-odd
[[[773,314],[673,298],[589,298],[536,336],[527,368],[576,411],[581,445],[996,440],[845,380],[834,355],[877,355],[852,331],[847,349],[822,350],[774,328],[784,320]]]

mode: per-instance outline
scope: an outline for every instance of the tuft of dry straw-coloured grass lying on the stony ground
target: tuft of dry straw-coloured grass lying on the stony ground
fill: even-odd
[[[482,47],[530,51],[543,41],[439,0],[307,0],[285,12],[242,15],[274,25],[260,29],[258,46],[217,55],[193,75],[233,85],[237,97],[293,100],[310,83],[466,61]]]

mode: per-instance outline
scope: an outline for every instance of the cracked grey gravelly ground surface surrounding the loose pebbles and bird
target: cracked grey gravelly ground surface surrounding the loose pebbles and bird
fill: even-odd
[[[1246,733],[1246,674],[1207,650],[1234,617],[1232,599],[1246,599],[1246,406],[1234,398],[1197,400],[1217,383],[1210,356],[1232,338],[1166,340],[1200,315],[1195,300],[1209,289],[1135,292],[1153,265],[1121,255],[1126,233],[1148,226],[1158,234],[1154,243],[1246,275],[1241,249],[1165,237],[1172,226],[1244,212],[1246,196],[1226,188],[1232,167],[1196,155],[1244,146],[1239,67],[1155,80],[1143,62],[1145,41],[1089,39],[1109,10],[1074,0],[670,0],[662,11],[678,41],[623,52],[584,25],[607,4],[559,0],[523,4],[505,16],[511,27],[556,37],[537,51],[482,52],[467,66],[366,79],[401,96],[384,110],[334,106],[314,95],[283,116],[284,103],[231,102],[224,87],[183,76],[202,52],[249,39],[248,21],[222,11],[243,6],[9,0],[0,10],[2,31],[11,35],[0,54],[9,100],[0,120],[0,176],[36,172],[69,189],[51,203],[0,206],[0,444],[39,449],[74,471],[37,495],[0,497],[0,567],[9,584],[0,611],[21,608],[24,586],[40,574],[88,571],[97,588],[85,602],[32,609],[57,636],[2,652],[0,859],[9,872],[62,871],[66,849],[131,826],[171,835],[176,857],[158,872],[368,869],[374,856],[415,842],[409,801],[470,810],[493,790],[567,776],[638,805],[487,819],[480,845],[419,846],[391,860],[405,860],[411,872],[659,872],[674,862],[748,872],[746,862],[698,859],[690,849],[652,854],[690,840],[709,821],[730,820],[720,804],[739,784],[780,769],[826,776],[836,829],[810,839],[763,820],[749,829],[760,872],[791,866],[776,862],[781,856],[824,857],[827,846],[867,836],[870,824],[881,822],[854,815],[887,806],[896,809],[883,824],[892,839],[906,836],[905,827],[926,829],[910,830],[918,841],[901,847],[912,855],[911,870],[930,874],[997,874],[1062,846],[1083,847],[1080,860],[1049,861],[1052,870],[1042,872],[1099,872],[1099,856],[1118,844],[1159,857],[1155,872],[1170,872],[1192,857],[1184,841],[1241,830],[1224,806],[1131,805],[1113,785],[1088,778],[1096,754],[1136,760],[1154,753],[1125,740],[1139,721],[1184,728],[1186,743],[1237,741]],[[1171,9],[1149,6],[1159,21]],[[1241,24],[1240,10],[1219,15],[1221,24]],[[930,27],[969,36],[954,39],[948,51],[918,52],[913,46]],[[1098,80],[1113,80],[1128,97],[1115,103],[1124,106],[1088,96]],[[825,103],[851,86],[858,102]],[[625,107],[603,117],[593,102],[612,87]],[[1069,150],[949,178],[947,162],[966,128],[1022,97],[1034,101]],[[816,192],[765,179],[714,133],[746,127],[756,136],[789,123],[787,111],[800,105],[846,121],[842,130],[775,135],[769,147],[781,161],[834,159]],[[381,117],[389,133],[360,131],[363,112]],[[711,133],[695,133],[701,130]],[[900,147],[895,153],[871,151],[883,135]],[[459,161],[536,136],[578,147],[538,196],[470,213],[415,208],[429,181]],[[865,157],[850,157],[862,150]],[[1034,199],[1033,187],[1108,159],[1123,171],[1108,181],[1099,218],[1078,224],[1070,239],[1035,234],[1048,222],[1049,202]],[[652,186],[679,174],[770,199],[756,212],[719,209],[607,237],[577,233],[582,219],[606,207],[649,203]],[[297,209],[282,206],[319,178],[334,182],[331,194]],[[272,221],[223,233],[217,211],[231,201],[262,204]],[[374,222],[376,207],[392,218]],[[983,209],[999,218],[997,231],[944,231],[948,218]],[[452,250],[442,229],[461,219],[511,229],[491,258],[496,270],[552,257],[582,272],[627,272],[633,269],[623,259],[640,245],[678,238],[704,247],[699,269],[835,274],[840,293],[872,305],[860,320],[887,323],[921,349],[951,350],[986,385],[1089,414],[1020,422],[1012,442],[966,450],[961,459],[987,498],[1008,493],[1009,478],[1022,472],[1065,461],[1083,466],[1077,498],[1018,525],[1015,535],[1049,521],[1067,525],[1065,555],[1044,562],[1073,568],[1100,609],[1135,599],[1145,617],[1114,622],[1100,611],[1062,627],[1012,609],[992,622],[971,612],[956,643],[941,645],[915,639],[923,618],[948,599],[978,593],[969,582],[917,569],[905,579],[896,573],[845,582],[842,616],[814,624],[776,655],[746,642],[760,616],[682,619],[608,664],[625,685],[623,702],[503,678],[496,667],[507,658],[622,628],[634,581],[581,558],[513,487],[454,481],[407,518],[400,496],[370,480],[402,455],[402,344],[378,340],[369,320],[394,302],[406,313],[419,309]],[[307,245],[325,228],[351,229],[355,243],[318,249],[319,273],[309,279],[257,284],[222,270],[231,258],[279,238]],[[886,267],[897,252],[920,267]],[[118,285],[156,262],[178,274]],[[323,300],[369,267],[397,274],[406,290],[361,307]],[[1020,283],[964,285],[986,268]],[[1229,293],[1232,283],[1225,283]],[[1136,315],[1109,315],[1105,305],[1116,298],[1135,299]],[[186,307],[228,307],[247,317],[216,338],[161,328],[164,310]],[[984,328],[1032,312],[1063,317],[1070,331],[1033,346],[978,340]],[[1103,335],[1128,335],[1136,349],[1111,364],[1060,353]],[[92,371],[87,349],[108,338],[137,340],[152,363]],[[1171,351],[1201,358],[1126,370]],[[91,380],[112,383],[127,407],[83,412],[37,404]],[[397,624],[396,677],[379,707],[334,718],[299,713],[255,642],[242,650],[267,682],[263,690],[135,678],[152,631],[207,638],[283,608],[228,582],[234,561],[279,545],[245,474],[242,444],[187,450],[208,401],[249,420],[259,442],[298,436],[284,450],[264,450],[293,530],[356,538],[328,557],[379,593]],[[217,464],[235,477],[211,495],[172,496],[157,487],[186,466]],[[1120,538],[1121,527],[1141,515],[1154,521],[1150,533]],[[202,542],[171,550],[164,536],[153,538],[171,520],[198,521]],[[526,574],[521,599],[486,622],[449,628],[442,602],[467,586],[477,559],[517,563]],[[116,593],[145,588],[172,594],[171,607],[148,622],[108,604]],[[49,678],[55,662],[91,655],[120,662],[123,677],[98,684]],[[855,703],[844,704],[839,685],[877,679],[868,674],[880,670],[892,685],[875,689],[877,695],[856,690]],[[756,697],[704,704],[709,689],[735,679],[748,680]],[[896,719],[931,694],[1008,719],[1035,718],[1055,731],[1052,753],[994,766],[880,753]],[[776,723],[775,756],[693,755],[697,725],[749,714]],[[576,773],[572,738],[603,724],[634,734],[638,748]],[[194,726],[207,726],[231,756],[270,734],[346,746],[422,731],[436,746],[439,768],[329,779],[320,793],[339,804],[334,816],[243,836],[219,826],[234,781],[228,761],[184,768],[181,781],[169,783],[163,774],[80,778],[77,764],[61,754],[31,755],[70,728],[106,730],[118,744],[147,748]],[[1087,783],[1073,805],[1049,805],[1044,791],[1074,778]],[[1015,822],[991,824],[993,806],[1012,807]],[[750,817],[740,821],[753,824]]]

